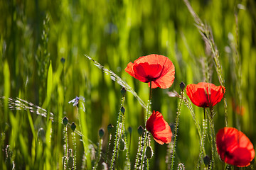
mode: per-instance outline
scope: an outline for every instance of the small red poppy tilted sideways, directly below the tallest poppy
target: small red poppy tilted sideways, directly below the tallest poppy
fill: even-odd
[[[153,111],[146,121],[146,130],[149,130],[154,140],[161,145],[171,142],[171,128],[168,123],[166,123],[166,120],[164,120],[163,115],[158,111]]]

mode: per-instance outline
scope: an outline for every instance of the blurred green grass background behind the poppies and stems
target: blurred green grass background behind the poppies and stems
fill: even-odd
[[[228,125],[245,132],[256,145],[256,6],[255,1],[192,0],[202,21],[213,30],[215,45],[225,79],[228,103]],[[235,26],[238,16],[238,31]],[[0,1],[0,96],[22,98],[54,113],[55,121],[48,151],[41,159],[33,156],[33,144],[39,128],[47,130],[48,121],[26,111],[11,111],[1,102],[2,169],[6,163],[6,145],[14,152],[16,169],[61,169],[63,157],[63,126],[60,118],[67,116],[78,123],[78,114],[68,101],[85,97],[88,138],[96,144],[98,130],[116,125],[122,86],[95,67],[87,54],[132,86],[146,103],[149,88],[124,72],[128,62],[152,53],[165,55],[176,67],[176,79],[170,89],[154,89],[152,110],[160,111],[167,122],[174,123],[178,98],[167,91],[180,91],[178,84],[205,81],[204,60],[209,52],[183,1],[166,0],[56,0]],[[238,36],[237,36],[238,33]],[[235,43],[238,37],[238,55]],[[65,63],[61,62],[61,58]],[[238,58],[239,57],[239,60]],[[48,80],[52,65],[53,79]],[[213,62],[211,81],[220,85]],[[206,71],[208,72],[208,71]],[[52,89],[49,89],[48,82]],[[50,94],[50,95],[49,95]],[[126,128],[133,128],[130,148],[132,166],[137,153],[137,128],[144,125],[144,108],[127,92]],[[238,115],[237,108],[243,114]],[[201,125],[203,109],[193,106]],[[223,101],[215,107],[215,132],[225,126]],[[31,128],[33,126],[33,128]],[[104,138],[107,147],[107,135]],[[154,141],[151,169],[165,169],[166,145]],[[82,142],[78,141],[78,167],[82,162]],[[103,152],[105,152],[103,150]],[[176,166],[196,167],[199,138],[196,126],[186,106],[181,108],[178,127]],[[206,154],[210,155],[210,150]],[[6,164],[6,165],[4,165]],[[120,165],[120,169],[122,166]]]

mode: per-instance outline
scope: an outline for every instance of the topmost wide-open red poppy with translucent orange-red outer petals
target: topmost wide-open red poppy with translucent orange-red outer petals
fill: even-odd
[[[167,89],[174,82],[174,64],[164,55],[146,55],[139,57],[134,63],[129,62],[124,69],[132,77],[149,83],[151,88]]]

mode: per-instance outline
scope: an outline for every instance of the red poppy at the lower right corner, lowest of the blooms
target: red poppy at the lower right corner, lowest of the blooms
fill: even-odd
[[[255,157],[252,142],[235,128],[223,128],[217,133],[216,144],[220,159],[235,166],[249,166]]]

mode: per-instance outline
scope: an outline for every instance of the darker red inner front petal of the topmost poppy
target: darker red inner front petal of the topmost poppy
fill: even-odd
[[[139,77],[144,78],[144,82],[149,82],[161,77],[164,66],[161,66],[161,64],[149,64],[148,62],[144,62],[135,64],[133,69]]]

